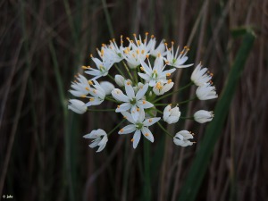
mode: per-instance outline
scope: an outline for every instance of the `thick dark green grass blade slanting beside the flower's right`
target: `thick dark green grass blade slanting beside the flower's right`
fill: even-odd
[[[179,201],[193,201],[197,197],[198,189],[204,179],[210,158],[214,152],[214,146],[222,133],[223,123],[229,113],[231,99],[235,93],[235,88],[239,82],[239,77],[244,69],[247,56],[253,46],[255,35],[252,31],[245,33],[239,52],[233,63],[228,81],[222,91],[221,97],[214,110],[214,121],[207,126],[200,148],[197,150],[188,177],[180,190]]]

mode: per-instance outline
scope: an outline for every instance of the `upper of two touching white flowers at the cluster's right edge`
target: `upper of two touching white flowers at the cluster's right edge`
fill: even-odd
[[[191,75],[191,80],[195,82],[197,86],[204,86],[212,79],[212,74],[207,73],[207,68],[201,68],[202,65],[199,63]]]

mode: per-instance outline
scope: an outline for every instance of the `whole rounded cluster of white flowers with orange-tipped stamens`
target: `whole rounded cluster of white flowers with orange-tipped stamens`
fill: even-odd
[[[180,93],[181,90],[194,84],[197,85],[196,96],[189,100],[216,98],[217,94],[211,81],[212,74],[199,63],[192,72],[190,83],[171,91],[174,86],[173,73],[177,69],[194,65],[186,64],[188,46],[180,50],[173,42],[169,46],[164,40],[156,46],[153,35],[149,38],[146,33],[144,39],[136,34],[133,36],[133,39],[126,38],[127,45],[124,45],[121,36],[120,46],[113,39],[109,44],[103,44],[100,49],[96,49],[97,57],[90,54],[94,67],[82,66],[85,73],[90,75],[90,79],[81,74],[76,76],[76,80],[71,83],[70,93],[80,99],[71,99],[68,109],[75,113],[85,113],[87,110],[96,112],[98,111],[94,107],[96,105],[101,105],[105,101],[116,103],[112,111],[121,113],[122,121],[108,134],[105,130],[97,129],[84,136],[94,139],[89,147],[98,146],[97,152],[104,149],[109,136],[115,130],[120,135],[133,133],[131,141],[134,148],[138,146],[141,136],[154,142],[154,135],[149,129],[154,124],[171,136],[175,145],[191,146],[193,144],[190,141],[193,138],[191,132],[181,130],[173,136],[164,129],[162,123],[172,124],[182,118],[204,123],[212,121],[213,112],[200,110],[192,117],[181,117],[180,103],[163,103],[163,99]],[[181,103],[186,102],[188,101]],[[93,109],[90,109],[92,106]],[[111,111],[111,108],[107,111]],[[125,123],[126,121],[129,123]],[[121,123],[126,125],[120,128]]]

